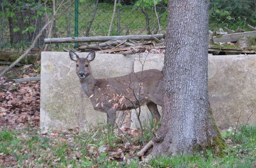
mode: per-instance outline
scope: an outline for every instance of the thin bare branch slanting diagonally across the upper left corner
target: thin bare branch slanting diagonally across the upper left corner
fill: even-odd
[[[7,71],[9,71],[12,67],[14,67],[17,63],[19,63],[20,61],[22,61],[22,59],[31,51],[31,49],[35,46],[35,43],[37,42],[37,40],[39,39],[39,37],[42,35],[42,32],[46,29],[46,27],[48,25],[50,25],[54,20],[58,19],[63,13],[65,13],[68,8],[70,8],[71,5],[73,5],[75,2],[75,0],[65,9],[63,10],[63,12],[60,13],[60,15],[58,17],[53,18],[51,21],[47,22],[44,27],[42,27],[42,29],[38,32],[38,35],[35,37],[34,41],[32,42],[32,44],[30,45],[30,47],[22,54],[20,55],[20,57],[14,61],[8,68],[4,69],[3,72],[0,74],[0,77],[3,76]]]

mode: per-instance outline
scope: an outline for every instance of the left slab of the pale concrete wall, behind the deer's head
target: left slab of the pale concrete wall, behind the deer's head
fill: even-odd
[[[78,53],[86,57],[88,53]],[[116,77],[132,71],[136,55],[96,54],[92,65],[95,78]],[[75,73],[68,52],[41,53],[40,128],[63,130],[89,128],[106,121],[106,114],[93,109]]]

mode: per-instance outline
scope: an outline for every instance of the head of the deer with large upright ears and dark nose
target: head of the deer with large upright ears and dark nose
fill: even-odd
[[[95,52],[92,51],[87,55],[87,58],[79,58],[78,55],[69,51],[70,59],[76,62],[76,74],[80,79],[85,79],[91,74],[90,62],[95,58]]]

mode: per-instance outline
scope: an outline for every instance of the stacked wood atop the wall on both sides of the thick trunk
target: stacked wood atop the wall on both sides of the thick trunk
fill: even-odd
[[[219,32],[209,31],[210,53],[256,53],[255,43],[256,28],[248,25],[250,32],[238,27],[236,31],[227,27]],[[96,53],[119,53],[133,54],[139,52],[164,53],[166,34],[157,35],[129,35],[129,36],[99,36],[99,37],[68,37],[45,39],[46,44],[50,43],[74,43],[74,42],[96,42],[97,44],[86,44],[79,46],[76,51],[89,52],[95,50]],[[248,37],[248,38],[247,38]],[[63,48],[63,50],[68,51]]]

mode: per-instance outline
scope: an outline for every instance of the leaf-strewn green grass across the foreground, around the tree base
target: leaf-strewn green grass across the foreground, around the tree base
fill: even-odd
[[[128,136],[128,135],[127,135]],[[135,156],[139,148],[125,149],[125,136],[106,129],[105,125],[89,131],[49,132],[37,130],[0,130],[0,166],[57,166],[57,167],[254,167],[256,125],[240,126],[222,132],[229,148],[223,158],[214,157],[207,151],[205,157],[162,156],[141,164]],[[130,136],[133,145],[136,137]],[[6,158],[1,162],[1,156]],[[2,157],[3,158],[3,157]],[[123,160],[124,159],[124,160]],[[8,164],[7,164],[8,163]]]

